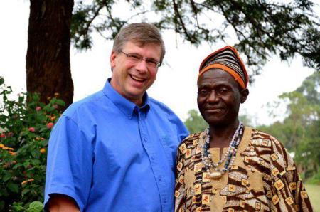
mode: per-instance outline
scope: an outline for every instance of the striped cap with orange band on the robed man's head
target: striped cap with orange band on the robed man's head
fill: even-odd
[[[230,73],[241,88],[247,88],[248,75],[238,51],[232,46],[225,46],[208,55],[201,63],[198,78],[207,70],[219,68]]]

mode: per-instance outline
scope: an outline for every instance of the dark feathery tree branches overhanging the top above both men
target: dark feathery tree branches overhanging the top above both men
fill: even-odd
[[[274,53],[282,60],[299,54],[304,65],[316,70],[320,68],[320,23],[311,1],[206,0],[200,4],[153,0],[150,4],[143,3],[141,0],[127,1],[128,8],[134,12],[124,11],[132,17],[123,18],[112,13],[117,1],[76,1],[71,25],[75,47],[80,50],[91,48],[92,32],[113,39],[125,23],[152,17],[159,28],[174,30],[196,46],[203,41],[209,45],[218,41],[228,43],[226,38],[235,33],[238,38],[235,47],[247,56],[252,75],[259,74],[260,67]]]

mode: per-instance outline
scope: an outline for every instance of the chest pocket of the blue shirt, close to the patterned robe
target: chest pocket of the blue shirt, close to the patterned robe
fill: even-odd
[[[178,139],[171,136],[162,136],[160,138],[164,153],[171,169],[176,166],[176,149],[178,148]]]

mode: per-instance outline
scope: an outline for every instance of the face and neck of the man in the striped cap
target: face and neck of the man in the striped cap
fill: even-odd
[[[198,107],[209,124],[210,147],[228,147],[238,127],[240,104],[247,100],[249,90],[224,70],[213,68],[198,78]]]

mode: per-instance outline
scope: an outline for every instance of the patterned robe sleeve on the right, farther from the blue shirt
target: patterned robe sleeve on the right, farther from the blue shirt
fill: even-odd
[[[310,199],[300,179],[297,166],[287,149],[277,139],[272,141],[270,161],[274,207],[279,211],[284,208],[288,211],[312,211]]]

